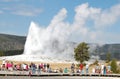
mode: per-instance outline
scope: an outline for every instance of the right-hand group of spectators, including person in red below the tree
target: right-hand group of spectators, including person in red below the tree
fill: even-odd
[[[81,74],[110,74],[111,73],[111,66],[107,65],[105,66],[104,64],[97,64],[95,67],[92,67],[92,71],[90,71],[90,66],[88,64],[79,64],[79,68],[75,69],[75,64],[73,63],[71,65],[71,71],[74,73],[81,73]]]

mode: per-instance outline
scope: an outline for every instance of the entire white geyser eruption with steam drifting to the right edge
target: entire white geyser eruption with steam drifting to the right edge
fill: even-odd
[[[104,36],[104,31],[98,28],[107,27],[108,19],[110,19],[109,24],[117,21],[120,17],[120,5],[104,11],[100,8],[89,7],[89,4],[85,3],[77,6],[75,12],[72,24],[65,20],[67,17],[65,8],[53,17],[47,27],[41,27],[37,23],[31,22],[24,54],[72,59],[76,45],[69,41],[102,43],[100,37]],[[87,25],[89,21],[93,22],[91,26]],[[91,27],[94,30],[91,30]]]

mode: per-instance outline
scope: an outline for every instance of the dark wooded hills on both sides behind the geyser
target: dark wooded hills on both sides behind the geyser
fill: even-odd
[[[5,56],[22,54],[25,41],[25,36],[0,34],[0,51]],[[74,48],[76,43],[70,42],[69,45],[72,45]],[[99,46],[98,44],[92,43],[89,46],[92,49],[90,55],[97,55],[101,59],[106,59],[106,53],[110,52],[111,58],[120,60],[120,44],[104,44],[103,46]]]

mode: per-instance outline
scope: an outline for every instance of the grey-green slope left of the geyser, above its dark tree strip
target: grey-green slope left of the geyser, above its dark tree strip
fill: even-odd
[[[25,40],[23,36],[0,34],[0,50],[21,50]]]

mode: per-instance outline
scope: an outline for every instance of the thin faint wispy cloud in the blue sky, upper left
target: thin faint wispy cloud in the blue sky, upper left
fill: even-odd
[[[43,9],[31,5],[14,5],[2,9],[7,13],[21,16],[37,16],[43,12]]]

